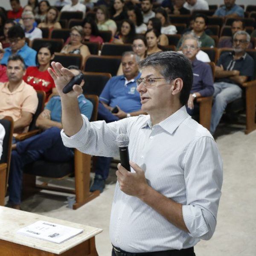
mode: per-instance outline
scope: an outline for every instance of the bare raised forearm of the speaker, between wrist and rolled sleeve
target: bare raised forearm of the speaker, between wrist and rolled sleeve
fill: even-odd
[[[82,127],[81,117],[77,98],[61,97],[62,106],[62,127],[67,136],[76,134]]]

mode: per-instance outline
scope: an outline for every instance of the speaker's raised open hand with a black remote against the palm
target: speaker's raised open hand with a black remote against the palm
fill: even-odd
[[[62,90],[65,85],[72,79],[74,74],[67,68],[63,67],[59,62],[52,61],[51,65],[55,72],[53,72],[51,68],[48,68],[48,72],[54,80],[55,87],[61,97],[67,95],[71,98],[77,98],[77,96],[83,93],[82,86],[84,84],[84,81],[82,81],[81,84],[75,84],[73,86],[73,90],[71,90],[67,94],[64,94]]]

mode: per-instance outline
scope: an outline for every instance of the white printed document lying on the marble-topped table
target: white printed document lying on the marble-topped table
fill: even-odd
[[[37,221],[34,224],[23,227],[17,231],[17,233],[21,235],[44,239],[57,244],[60,244],[82,232],[82,229],[67,227],[48,221]]]

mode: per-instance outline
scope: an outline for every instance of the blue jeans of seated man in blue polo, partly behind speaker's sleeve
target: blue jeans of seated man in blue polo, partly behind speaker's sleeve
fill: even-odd
[[[119,118],[114,116],[104,105],[99,102],[98,120],[105,120],[107,123],[118,121]],[[101,175],[105,180],[108,177],[109,166],[112,157],[97,157],[95,165],[95,175]]]

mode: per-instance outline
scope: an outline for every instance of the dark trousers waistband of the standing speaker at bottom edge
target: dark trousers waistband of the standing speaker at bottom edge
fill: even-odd
[[[120,248],[117,248],[120,252],[112,249],[112,256],[195,256],[194,247],[182,250],[167,250],[151,253],[128,253]]]

